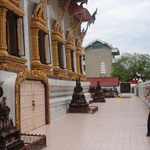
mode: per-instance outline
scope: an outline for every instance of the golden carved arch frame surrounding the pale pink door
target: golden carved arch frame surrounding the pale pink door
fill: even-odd
[[[26,69],[23,72],[20,72],[17,74],[17,79],[15,83],[15,122],[16,122],[16,127],[20,129],[21,124],[20,124],[20,84],[26,80],[26,79],[33,79],[33,80],[41,80],[44,82],[46,85],[45,90],[46,92],[46,124],[50,123],[50,103],[49,103],[49,83],[48,83],[48,78],[46,74],[40,70],[29,70]]]

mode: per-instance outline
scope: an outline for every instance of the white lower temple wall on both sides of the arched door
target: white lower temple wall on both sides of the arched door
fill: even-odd
[[[15,82],[17,74],[14,72],[0,71],[0,81],[3,83],[2,87],[4,95],[7,98],[7,105],[10,107],[10,118],[15,122]],[[50,119],[57,118],[67,113],[67,108],[72,99],[76,81],[48,79],[50,85]],[[83,92],[87,102],[90,99],[88,93],[89,82],[82,82]]]

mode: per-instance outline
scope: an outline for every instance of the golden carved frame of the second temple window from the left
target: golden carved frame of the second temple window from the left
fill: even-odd
[[[53,75],[52,71],[50,70],[52,67],[42,64],[40,62],[40,55],[39,55],[39,30],[44,31],[45,34],[48,34],[50,31],[46,26],[47,18],[45,18],[44,14],[44,7],[48,3],[46,0],[44,3],[42,0],[36,5],[34,10],[34,15],[31,18],[31,35],[32,35],[32,69],[43,70],[47,75]],[[45,40],[46,42],[46,40]],[[45,49],[46,51],[46,49]]]

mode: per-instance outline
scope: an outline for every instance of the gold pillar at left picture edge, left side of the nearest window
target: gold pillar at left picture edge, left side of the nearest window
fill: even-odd
[[[6,13],[7,9],[0,7],[0,53],[7,55],[7,43],[6,43]]]

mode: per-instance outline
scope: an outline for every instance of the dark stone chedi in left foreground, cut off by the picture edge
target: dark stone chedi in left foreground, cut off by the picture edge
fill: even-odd
[[[2,88],[0,91],[3,93]],[[10,108],[6,104],[6,97],[2,97],[0,101],[0,150],[19,150],[24,143],[20,140],[20,131],[13,126],[9,113]]]

